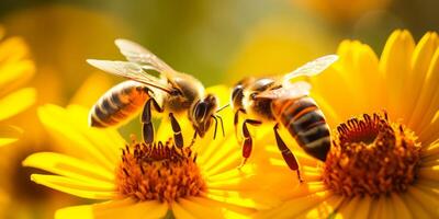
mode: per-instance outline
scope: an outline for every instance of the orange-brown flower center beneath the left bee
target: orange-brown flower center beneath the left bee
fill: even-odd
[[[206,185],[190,148],[173,143],[153,145],[133,139],[122,151],[116,170],[117,192],[124,197],[172,203],[181,197],[200,196]]]

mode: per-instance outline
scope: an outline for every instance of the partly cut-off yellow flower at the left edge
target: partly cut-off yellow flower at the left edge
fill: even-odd
[[[3,38],[0,27],[0,39]],[[20,37],[9,37],[0,43],[0,147],[18,140],[21,129],[8,119],[35,102],[35,90],[21,88],[34,73],[34,64]]]

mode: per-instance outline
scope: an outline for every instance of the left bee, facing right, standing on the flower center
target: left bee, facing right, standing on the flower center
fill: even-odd
[[[146,143],[154,142],[151,110],[169,115],[175,145],[182,148],[183,137],[176,115],[187,114],[194,128],[191,145],[196,136],[204,137],[213,122],[215,134],[218,119],[224,135],[223,119],[217,112],[218,100],[204,93],[203,84],[190,74],[173,70],[165,61],[140,45],[116,39],[115,45],[127,61],[88,59],[87,61],[103,71],[121,76],[127,81],[121,82],[104,93],[93,105],[89,114],[92,127],[117,126],[140,113],[142,135]],[[156,71],[159,78],[148,73]],[[227,106],[227,105],[226,105]]]

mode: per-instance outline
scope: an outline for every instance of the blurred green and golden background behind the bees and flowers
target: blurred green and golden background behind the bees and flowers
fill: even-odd
[[[345,38],[360,39],[380,55],[395,28],[408,28],[416,39],[439,31],[437,9],[437,0],[2,0],[0,26],[7,38],[20,36],[27,45],[36,68],[26,85],[36,89],[37,99],[2,122],[24,135],[0,148],[0,218],[52,218],[57,208],[83,203],[33,184],[21,161],[56,150],[38,123],[38,105],[90,107],[121,81],[86,64],[122,59],[113,44],[117,37],[140,43],[206,87],[233,85],[245,76],[284,73],[334,54]],[[134,120],[121,131],[127,139],[138,128]]]

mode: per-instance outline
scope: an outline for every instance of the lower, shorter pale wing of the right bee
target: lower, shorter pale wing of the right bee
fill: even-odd
[[[259,99],[295,99],[308,95],[311,90],[309,83],[299,81],[289,83],[286,87],[281,87],[274,90],[267,90],[256,95]]]

